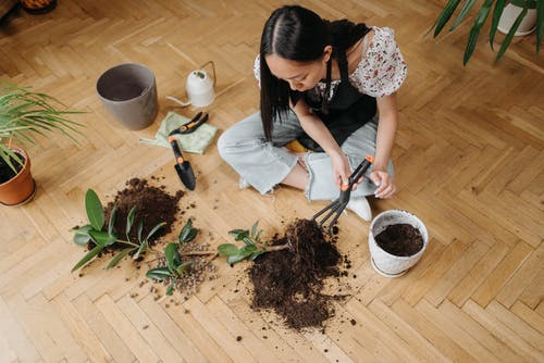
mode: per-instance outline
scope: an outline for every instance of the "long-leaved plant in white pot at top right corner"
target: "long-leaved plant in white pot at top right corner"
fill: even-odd
[[[475,2],[475,0],[466,0],[463,2],[461,10],[449,28],[449,32],[455,30],[465,21]],[[459,4],[460,0],[448,0],[448,2],[444,5],[444,9],[438,14],[431,28],[434,28],[434,37],[436,37],[444,29],[444,26],[452,18],[452,15]],[[494,5],[493,12],[492,5]],[[507,33],[505,39],[500,43],[497,55],[495,57],[495,62],[504,55],[515,35],[530,34],[533,28],[536,29],[536,51],[540,52],[542,36],[544,34],[544,0],[511,0],[508,2],[505,0],[484,0],[470,29],[462,59],[463,65],[468,63],[470,57],[474,52],[478,37],[486,20],[490,17],[490,14],[492,14],[492,21],[489,40],[492,49],[494,49],[493,46],[497,29],[503,33]],[[535,24],[530,24],[531,18],[535,22]]]

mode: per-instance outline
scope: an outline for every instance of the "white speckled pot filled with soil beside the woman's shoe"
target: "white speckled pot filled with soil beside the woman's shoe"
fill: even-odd
[[[410,212],[388,210],[370,224],[370,262],[383,276],[404,275],[419,261],[428,243],[425,225]]]

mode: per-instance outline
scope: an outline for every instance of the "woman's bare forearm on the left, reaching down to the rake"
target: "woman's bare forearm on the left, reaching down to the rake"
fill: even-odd
[[[350,175],[349,161],[331,135],[329,128],[326,128],[321,118],[310,111],[302,99],[298,100],[293,111],[297,115],[300,126],[302,126],[306,134],[318,142],[323,151],[331,158],[333,178],[338,188],[343,183],[347,184]]]

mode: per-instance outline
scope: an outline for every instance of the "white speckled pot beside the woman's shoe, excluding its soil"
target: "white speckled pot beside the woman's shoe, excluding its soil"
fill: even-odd
[[[387,226],[393,224],[406,223],[417,228],[423,237],[423,247],[416,254],[410,256],[398,256],[384,251],[378,246],[374,237],[382,233]],[[398,277],[404,275],[411,266],[413,266],[429,245],[429,234],[426,227],[410,212],[401,210],[388,210],[380,213],[372,220],[369,229],[369,249],[372,267],[386,277]]]

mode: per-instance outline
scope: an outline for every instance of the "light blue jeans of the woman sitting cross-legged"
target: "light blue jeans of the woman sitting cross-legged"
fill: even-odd
[[[359,165],[367,154],[375,153],[378,116],[354,134],[342,145],[342,150],[349,160],[351,171]],[[304,133],[294,112],[274,123],[272,141],[267,141],[262,128],[261,114],[256,112],[226,129],[218,140],[218,150],[247,183],[260,193],[271,191],[280,184],[297,164],[297,155],[283,148]],[[305,195],[308,200],[333,200],[339,195],[334,184],[331,159],[324,152],[308,152],[304,162],[308,170],[309,182]],[[387,172],[393,176],[393,164],[390,161]],[[371,168],[364,173],[364,182],[353,197],[370,196],[376,186],[369,179]]]

